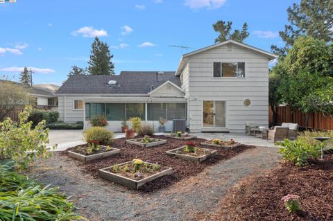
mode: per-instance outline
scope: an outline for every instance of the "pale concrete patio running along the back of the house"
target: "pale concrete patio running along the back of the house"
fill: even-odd
[[[51,130],[49,134],[50,146],[58,145],[54,151],[62,151],[67,148],[74,147],[85,143],[83,140],[83,130]],[[156,135],[162,135],[163,133],[155,133]],[[169,133],[165,133],[169,134]],[[203,139],[221,139],[221,140],[230,140],[234,139],[235,141],[240,141],[241,143],[247,145],[255,145],[262,147],[276,147],[273,141],[266,141],[266,139],[261,139],[257,137],[250,136],[244,133],[193,133],[199,138]],[[115,138],[124,137],[123,133],[116,133]]]

